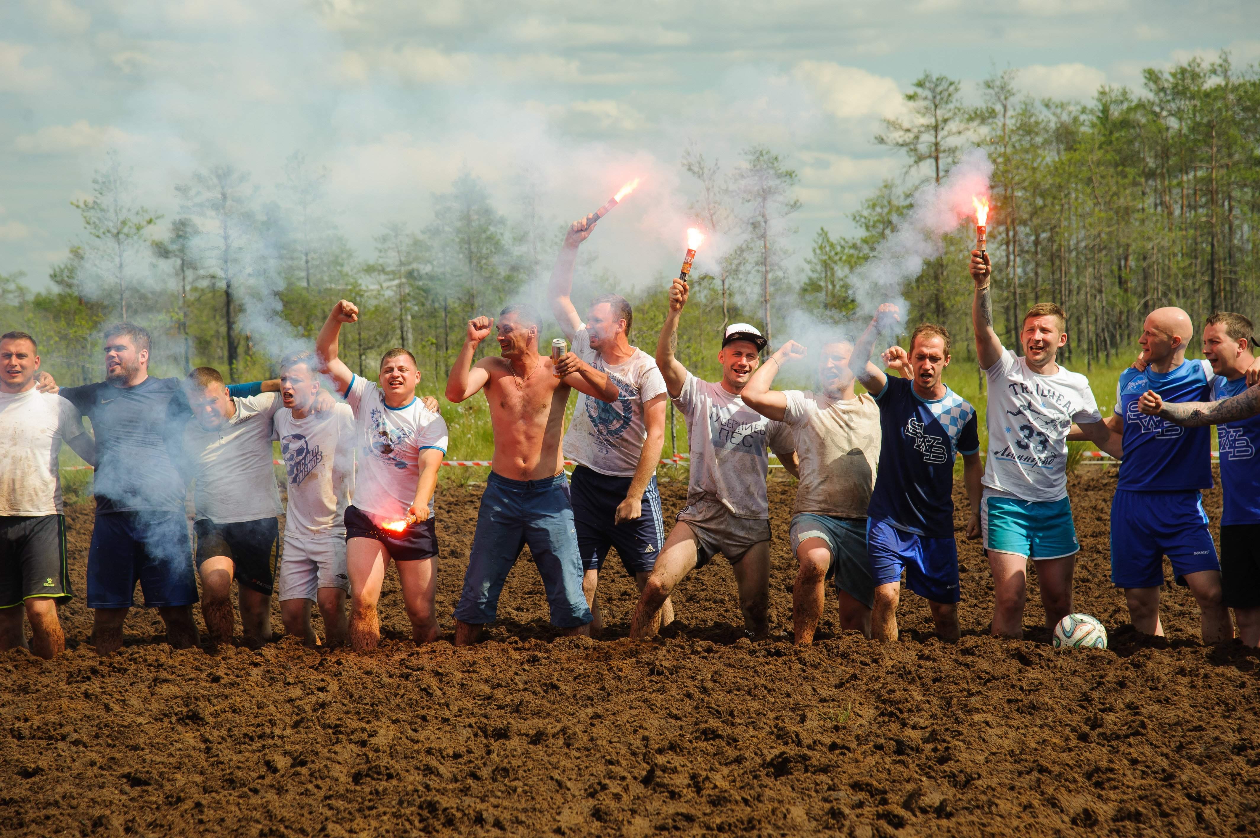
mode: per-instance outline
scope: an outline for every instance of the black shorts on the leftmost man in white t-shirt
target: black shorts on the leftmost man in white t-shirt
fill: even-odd
[[[37,596],[72,596],[66,515],[0,515],[0,609]]]

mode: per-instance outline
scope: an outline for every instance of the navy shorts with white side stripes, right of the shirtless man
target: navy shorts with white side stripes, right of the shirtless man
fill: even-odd
[[[570,493],[573,499],[573,524],[582,568],[602,571],[609,549],[617,548],[626,573],[650,573],[656,554],[665,543],[665,524],[660,514],[660,491],[653,475],[643,493],[643,514],[635,520],[616,520],[617,507],[626,499],[634,478],[612,478],[580,465],[573,469]]]

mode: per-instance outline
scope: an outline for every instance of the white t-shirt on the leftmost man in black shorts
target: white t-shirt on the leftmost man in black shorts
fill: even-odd
[[[78,410],[60,396],[34,387],[0,392],[0,515],[59,514],[62,441],[86,432]]]

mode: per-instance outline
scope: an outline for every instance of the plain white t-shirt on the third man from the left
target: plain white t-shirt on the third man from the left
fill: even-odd
[[[236,413],[207,431],[193,418],[184,426],[197,518],[217,524],[275,518],[280,490],[272,469],[271,422],[284,406],[280,393],[232,398]]]

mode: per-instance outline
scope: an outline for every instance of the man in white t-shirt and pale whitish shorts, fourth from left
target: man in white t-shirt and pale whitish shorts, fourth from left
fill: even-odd
[[[318,407],[326,396],[319,369],[319,358],[310,352],[280,362],[284,407],[276,411],[275,439],[280,440],[289,483],[280,614],[286,634],[314,646],[319,638],[311,626],[311,602],[316,604],[325,644],[339,646],[345,641],[345,595],[350,590],[345,510],[354,488],[354,411],[344,403]],[[373,539],[368,547],[378,543]]]

